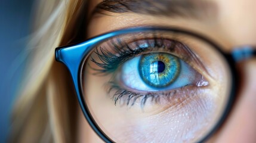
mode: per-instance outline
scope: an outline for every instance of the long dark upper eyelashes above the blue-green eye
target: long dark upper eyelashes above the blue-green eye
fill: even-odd
[[[156,48],[164,48],[168,51],[173,51],[175,48],[175,44],[166,47],[164,46],[164,39],[158,39],[153,38],[153,41],[155,43],[153,47],[149,48],[143,48],[136,43],[138,49],[132,49],[128,43],[121,42],[121,39],[117,39],[118,43],[112,41],[113,50],[115,51],[115,54],[112,54],[112,52],[107,51],[106,49],[102,48],[101,46],[97,47],[94,51],[95,54],[97,54],[98,58],[100,59],[100,62],[97,62],[94,58],[91,57],[91,61],[95,64],[97,64],[98,67],[101,67],[102,69],[94,69],[97,71],[95,74],[102,74],[102,73],[113,73],[115,72],[118,67],[123,64],[125,61],[136,57],[137,55],[140,55],[141,53],[153,51]],[[149,44],[149,40],[151,39],[143,39]],[[138,41],[138,40],[135,40]],[[160,44],[159,44],[160,43]],[[172,43],[175,43],[175,41],[172,41]],[[150,44],[149,44],[150,45]],[[118,56],[119,55],[119,56]]]

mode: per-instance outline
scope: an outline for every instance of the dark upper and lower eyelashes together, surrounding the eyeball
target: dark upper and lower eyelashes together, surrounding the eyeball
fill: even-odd
[[[164,44],[165,40],[170,41],[171,45],[166,46]],[[135,42],[133,42],[133,43],[135,43],[136,48],[132,49],[129,46],[129,43],[121,42],[121,39],[116,39],[116,41],[118,41],[118,42],[115,42],[114,40],[112,40],[109,43],[109,45],[111,47],[113,47],[112,50],[115,52],[115,54],[108,51],[107,49],[105,49],[102,46],[98,46],[95,49],[94,54],[97,55],[97,57],[100,61],[98,62],[92,56],[91,56],[91,61],[93,63],[95,63],[98,67],[100,67],[101,69],[95,69],[92,66],[90,66],[91,69],[95,71],[94,74],[97,74],[97,75],[101,74],[104,76],[106,74],[113,73],[113,76],[111,78],[111,79],[113,79],[113,77],[115,77],[115,71],[118,69],[119,66],[121,66],[123,63],[125,63],[125,61],[127,61],[131,58],[134,58],[137,55],[144,54],[144,53],[150,52],[150,51],[154,51],[155,49],[156,49],[156,51],[157,50],[159,51],[159,49],[162,49],[165,52],[175,52],[177,49],[177,44],[180,43],[180,42],[177,42],[174,40],[157,38],[156,36],[154,36],[153,39],[143,39],[143,41],[149,45],[149,47],[147,47],[147,48],[141,47],[137,42],[140,40],[135,39],[134,40]],[[150,44],[150,41],[153,41],[153,42]],[[184,45],[182,45],[182,46],[184,46]],[[195,54],[193,54],[193,52],[190,51],[190,49],[187,49],[187,47],[185,47],[184,49],[185,49],[185,53],[184,53],[185,55],[183,55],[183,57],[182,57],[182,55],[179,55],[179,57],[181,59],[183,59],[187,63],[192,62],[192,63],[198,64],[199,67],[200,66],[203,67],[202,63],[197,59],[197,57],[195,57]],[[180,95],[180,91],[184,91],[184,88],[187,87],[187,86],[184,86],[179,89],[172,89],[171,91],[166,91],[166,92],[161,92],[161,93],[147,92],[146,94],[142,94],[142,93],[128,91],[127,89],[122,89],[115,82],[115,80],[111,80],[111,79],[109,82],[106,83],[106,87],[107,87],[108,94],[110,94],[110,92],[115,90],[115,93],[112,95],[112,99],[115,101],[115,105],[118,102],[118,100],[120,100],[121,98],[122,98],[122,101],[125,101],[125,99],[127,99],[126,105],[131,105],[131,106],[133,106],[138,99],[141,99],[141,101],[140,101],[141,108],[144,107],[144,105],[146,104],[146,101],[148,101],[149,98],[151,98],[151,101],[155,102],[155,103],[158,103],[160,98],[162,98],[162,97],[166,98],[167,101],[170,101],[169,99],[172,96]]]

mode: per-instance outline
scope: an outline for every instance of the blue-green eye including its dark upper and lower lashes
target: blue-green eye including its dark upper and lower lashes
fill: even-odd
[[[202,63],[181,42],[163,38],[132,42],[114,40],[104,48],[98,47],[91,61],[101,67],[94,69],[95,74],[112,74],[105,85],[115,104],[117,101],[127,105],[140,102],[144,106],[147,98],[155,102],[159,101],[158,98],[184,98],[188,93],[182,88],[194,87],[190,92],[209,85],[193,68],[203,69]],[[106,50],[106,47],[112,50]],[[177,89],[181,89],[180,92],[176,92]]]

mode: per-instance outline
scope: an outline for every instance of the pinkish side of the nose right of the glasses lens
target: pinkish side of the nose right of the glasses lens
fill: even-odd
[[[256,142],[256,59],[242,66],[243,86],[216,142]]]

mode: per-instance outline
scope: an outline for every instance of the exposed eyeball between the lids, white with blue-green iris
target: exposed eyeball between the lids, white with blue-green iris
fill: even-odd
[[[168,91],[197,86],[202,80],[202,74],[185,61],[164,52],[143,54],[126,61],[119,76],[124,86],[138,91]]]

